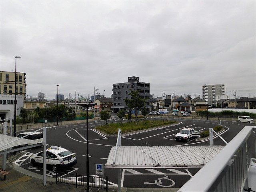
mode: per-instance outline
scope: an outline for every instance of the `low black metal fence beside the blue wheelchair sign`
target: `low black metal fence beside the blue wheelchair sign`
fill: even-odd
[[[104,178],[104,184],[102,181],[103,180],[101,177],[89,176],[89,187],[102,188],[102,186],[104,186],[104,189],[108,191],[108,177]],[[58,182],[72,184],[75,185],[76,188],[77,186],[87,186],[86,176],[78,174],[56,172],[56,184]]]

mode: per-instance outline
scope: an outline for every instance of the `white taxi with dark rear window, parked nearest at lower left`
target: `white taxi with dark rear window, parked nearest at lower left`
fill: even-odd
[[[43,164],[43,151],[33,154],[30,157],[30,162],[35,164]],[[76,156],[74,153],[70,152],[61,147],[51,146],[46,150],[46,164],[51,166],[53,172],[62,169],[66,166],[75,165],[77,162]]]

